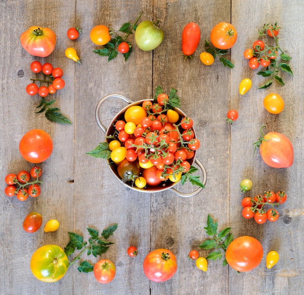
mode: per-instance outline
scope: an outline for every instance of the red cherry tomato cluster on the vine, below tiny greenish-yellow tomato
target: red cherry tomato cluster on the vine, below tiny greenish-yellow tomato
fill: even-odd
[[[279,213],[274,209],[274,205],[285,203],[287,195],[285,191],[278,191],[274,193],[268,190],[262,195],[254,197],[244,197],[242,199],[242,216],[246,219],[254,218],[254,221],[258,224],[263,224],[267,220],[273,222],[279,218]],[[265,209],[266,205],[270,205],[270,209]]]

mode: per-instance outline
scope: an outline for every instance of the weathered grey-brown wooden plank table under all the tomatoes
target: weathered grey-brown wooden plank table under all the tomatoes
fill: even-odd
[[[2,200],[0,206],[0,294],[3,295],[300,295],[304,287],[303,263],[303,15],[302,0],[237,1],[237,0],[0,0],[0,168]],[[161,46],[144,52],[130,40],[134,51],[127,62],[121,55],[108,62],[92,50],[89,32],[97,24],[110,25],[118,31],[125,22],[160,20],[165,38]],[[201,28],[201,42],[192,60],[181,54],[181,33],[194,21]],[[228,58],[235,67],[229,69],[219,59],[204,66],[199,54],[204,50],[204,38],[220,21],[232,23],[238,32],[236,45]],[[292,56],[289,62],[294,77],[282,74],[285,86],[273,82],[270,88],[257,89],[266,78],[251,70],[243,51],[258,37],[264,23],[278,22],[279,43]],[[46,58],[36,58],[22,49],[19,36],[28,27],[50,27],[57,34],[54,52]],[[69,27],[79,26],[82,35],[71,41]],[[74,47],[82,65],[65,57],[65,49]],[[25,87],[33,77],[30,64],[34,60],[50,62],[64,70],[66,86],[53,96],[55,107],[67,115],[72,125],[48,121],[43,113],[35,114],[40,98],[29,97]],[[238,93],[243,78],[253,81],[245,95]],[[106,95],[118,93],[136,101],[152,98],[157,85],[168,93],[177,90],[181,109],[194,119],[201,148],[197,158],[207,170],[206,188],[190,198],[177,197],[170,191],[145,194],[135,192],[109,172],[106,161],[86,152],[104,141],[104,133],[96,124],[95,108]],[[263,98],[270,92],[280,94],[285,109],[279,115],[269,114]],[[124,105],[111,102],[103,111],[109,124]],[[229,109],[236,109],[239,118],[226,125]],[[286,169],[275,169],[253,155],[252,143],[259,137],[260,127],[282,132],[294,145],[294,163]],[[44,174],[41,196],[20,202],[6,197],[4,177],[8,173],[30,169],[18,151],[22,135],[34,128],[47,131],[54,143],[51,157],[41,164]],[[253,188],[243,194],[239,182],[253,180]],[[179,185],[179,189],[183,187]],[[275,223],[257,225],[253,219],[241,216],[241,199],[272,189],[287,192],[287,202],[278,211]],[[43,216],[42,228],[35,233],[22,229],[24,217],[36,211]],[[237,274],[221,261],[210,261],[202,272],[188,261],[190,249],[198,249],[206,257],[210,251],[199,249],[208,236],[203,229],[210,214],[219,228],[231,227],[234,238],[250,235],[262,243],[264,256],[253,271]],[[57,231],[45,233],[47,220],[58,219]],[[118,223],[110,238],[108,252],[101,258],[115,262],[117,274],[106,285],[99,284],[93,273],[79,273],[71,266],[66,276],[56,283],[44,283],[34,278],[30,270],[31,256],[38,247],[56,244],[65,247],[68,231],[88,238],[87,227],[102,231]],[[139,249],[136,258],[127,256],[127,248]],[[142,269],[146,254],[165,247],[175,253],[178,271],[164,283],[149,281]],[[280,260],[272,269],[265,266],[266,253],[276,250]],[[89,256],[95,263],[100,257]]]

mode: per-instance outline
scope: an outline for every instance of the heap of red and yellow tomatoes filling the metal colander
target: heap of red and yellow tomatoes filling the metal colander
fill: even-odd
[[[109,142],[111,159],[118,175],[138,188],[179,181],[200,147],[193,120],[167,108],[168,99],[162,93],[157,102],[131,106],[115,123],[116,138]]]

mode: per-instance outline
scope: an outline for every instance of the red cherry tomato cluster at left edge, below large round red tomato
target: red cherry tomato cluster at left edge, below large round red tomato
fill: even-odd
[[[17,174],[9,173],[5,177],[5,183],[7,186],[4,189],[4,193],[8,197],[16,196],[19,201],[25,201],[29,196],[38,197],[41,189],[39,184],[41,181],[38,178],[42,174],[42,169],[34,166],[30,172],[22,170]],[[34,181],[30,182],[31,176]]]

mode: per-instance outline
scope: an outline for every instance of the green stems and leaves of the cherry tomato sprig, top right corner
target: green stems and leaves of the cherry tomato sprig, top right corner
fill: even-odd
[[[261,75],[262,77],[270,77],[270,80],[268,80],[266,83],[264,83],[262,86],[258,87],[259,89],[268,88],[271,86],[273,81],[277,81],[280,85],[285,85],[283,82],[283,79],[278,76],[279,71],[286,72],[290,76],[293,76],[293,72],[289,65],[287,65],[287,61],[291,60],[291,57],[284,53],[284,51],[281,49],[278,38],[274,35],[273,30],[278,30],[279,27],[277,26],[277,22],[275,22],[274,25],[264,24],[263,28],[259,30],[259,38],[261,38],[264,35],[267,35],[267,31],[270,30],[272,34],[272,38],[275,41],[275,45],[268,46],[265,44],[265,48],[263,50],[257,49],[254,50],[254,56],[257,57],[257,60],[259,61],[261,58],[266,59],[270,58],[270,56],[273,56],[274,58],[270,58],[270,65],[266,67],[265,70],[261,70],[257,72],[257,75]],[[281,53],[280,53],[281,52]],[[280,57],[281,61],[279,61],[278,57]]]

